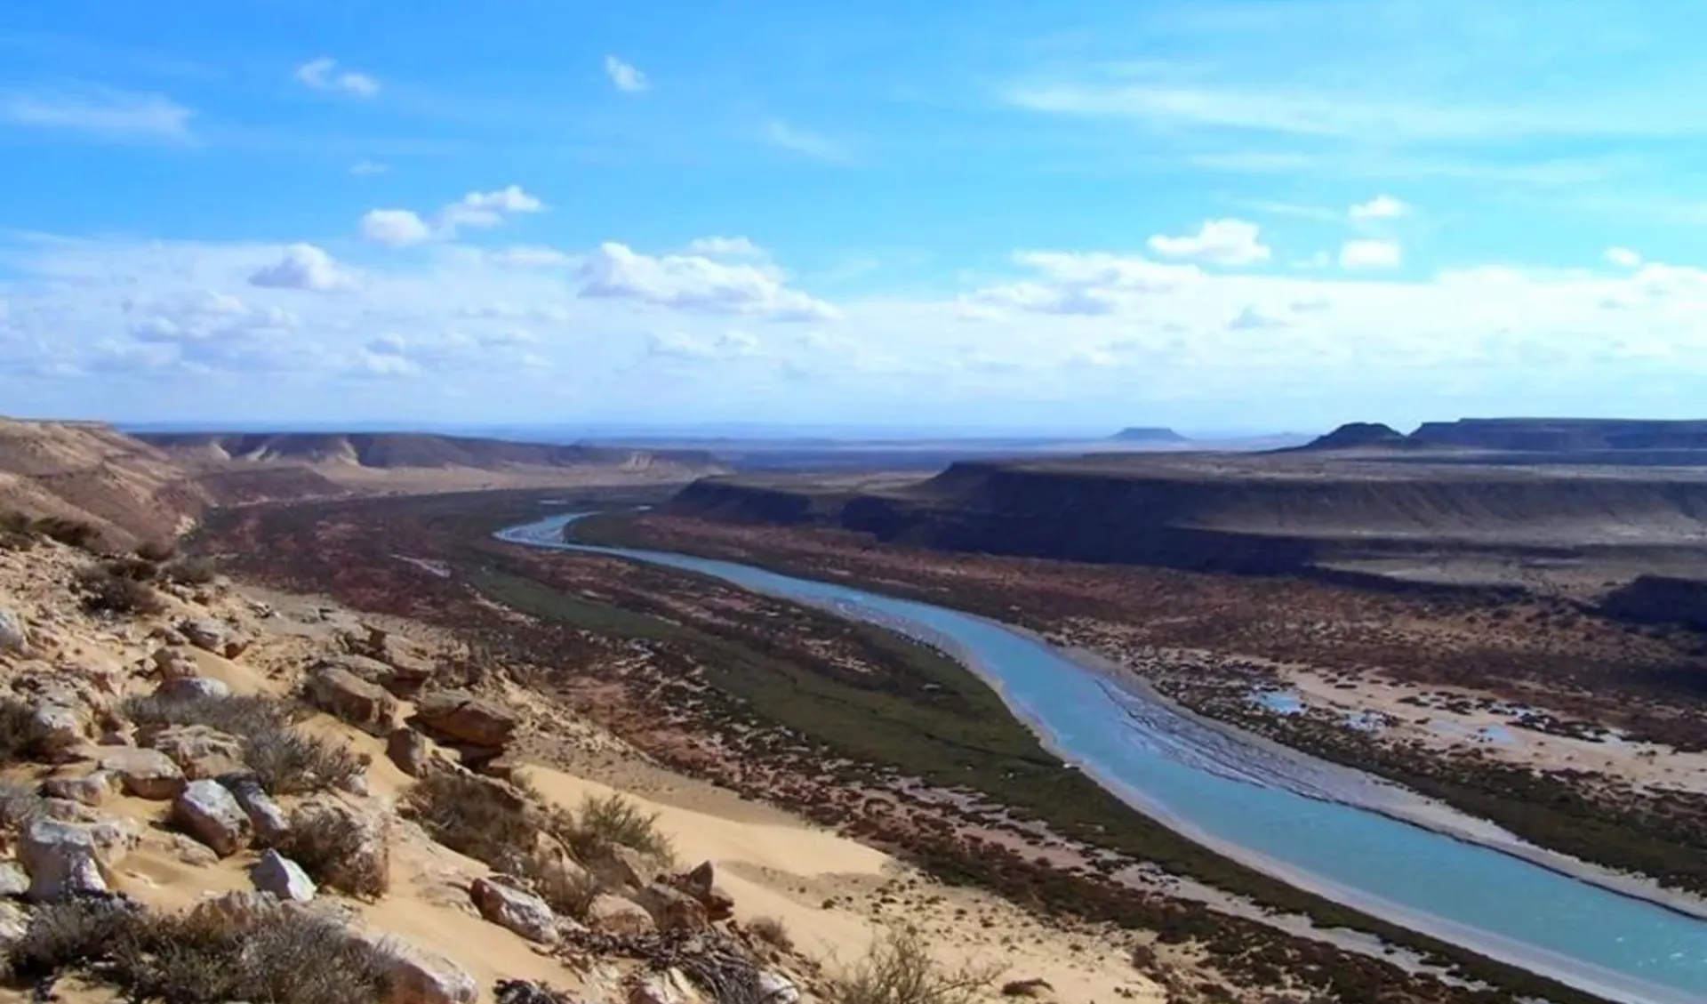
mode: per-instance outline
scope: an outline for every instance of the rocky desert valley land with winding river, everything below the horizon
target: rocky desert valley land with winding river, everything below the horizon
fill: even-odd
[[[24,997],[1707,985],[1695,423],[0,434]]]

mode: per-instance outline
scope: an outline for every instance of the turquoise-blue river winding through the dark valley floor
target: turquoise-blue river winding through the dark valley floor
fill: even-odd
[[[985,676],[1069,763],[1183,833],[1328,898],[1632,1004],[1707,1001],[1707,922],[1519,857],[1349,804],[1263,784],[1181,743],[1140,695],[1034,637],[973,615],[831,582],[664,552],[563,543],[574,516],[502,531],[512,543],[669,565],[872,620],[942,644]],[[1151,705],[1151,707],[1145,707]]]

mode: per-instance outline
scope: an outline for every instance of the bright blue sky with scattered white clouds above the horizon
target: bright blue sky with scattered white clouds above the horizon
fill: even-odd
[[[0,413],[1707,412],[1695,0],[7,0]]]

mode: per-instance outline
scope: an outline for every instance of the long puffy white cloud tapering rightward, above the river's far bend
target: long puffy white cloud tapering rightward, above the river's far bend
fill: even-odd
[[[780,270],[731,265],[696,254],[650,256],[606,242],[580,270],[580,295],[626,299],[683,311],[765,314],[785,321],[828,321],[840,311],[785,285]]]

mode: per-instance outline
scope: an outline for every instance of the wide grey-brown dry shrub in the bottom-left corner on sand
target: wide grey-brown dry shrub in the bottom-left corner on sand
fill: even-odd
[[[131,1001],[174,1004],[369,1004],[387,989],[377,949],[294,910],[232,924],[210,912],[155,915],[116,898],[68,900],[36,910],[9,961],[17,980],[79,973]]]

